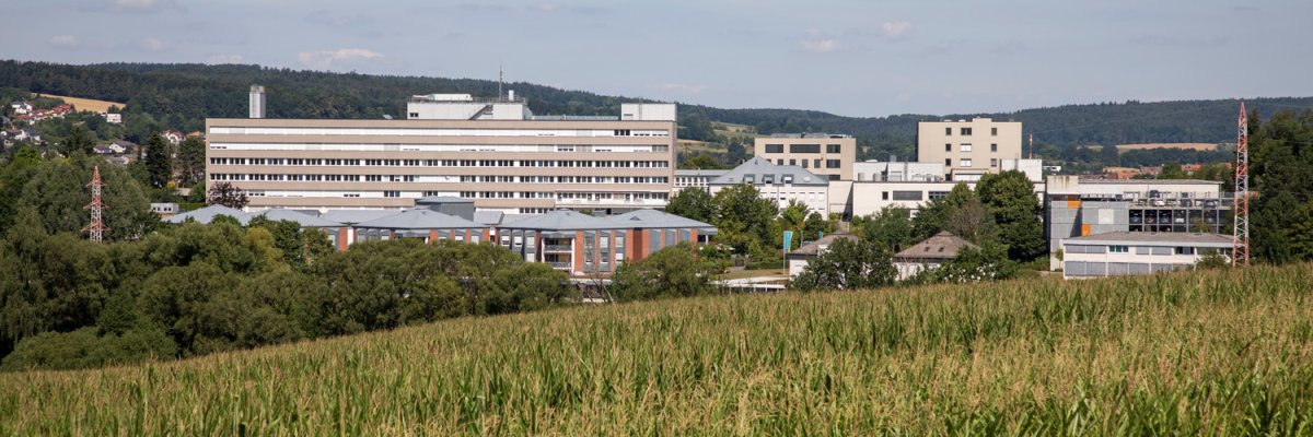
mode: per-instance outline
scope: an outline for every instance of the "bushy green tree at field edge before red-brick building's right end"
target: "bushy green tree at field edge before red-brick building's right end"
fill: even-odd
[[[621,264],[612,276],[611,293],[617,301],[705,295],[716,291],[712,281],[722,270],[689,243],[679,243],[638,262]]]

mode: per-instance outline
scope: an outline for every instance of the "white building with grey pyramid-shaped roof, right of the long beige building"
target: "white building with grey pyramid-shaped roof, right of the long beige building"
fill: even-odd
[[[807,206],[807,213],[830,215],[830,178],[814,175],[801,167],[776,165],[758,156],[712,180],[708,188],[714,196],[722,189],[739,184],[755,186],[763,198],[775,201],[780,209],[797,201]]]

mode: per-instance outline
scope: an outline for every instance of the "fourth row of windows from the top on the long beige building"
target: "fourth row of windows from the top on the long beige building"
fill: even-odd
[[[668,184],[666,176],[416,176],[416,175],[282,175],[210,173],[211,181],[273,182],[500,182],[500,184]]]

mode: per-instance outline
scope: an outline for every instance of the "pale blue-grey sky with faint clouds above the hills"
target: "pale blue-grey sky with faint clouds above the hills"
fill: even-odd
[[[4,3],[18,20],[0,59],[74,64],[490,80],[500,67],[507,81],[855,117],[1313,96],[1308,0]]]

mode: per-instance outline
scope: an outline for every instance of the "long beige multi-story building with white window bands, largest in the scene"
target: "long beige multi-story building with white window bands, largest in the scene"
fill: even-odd
[[[675,105],[620,117],[538,117],[524,100],[415,96],[408,119],[207,118],[206,175],[248,210],[404,209],[461,197],[479,210],[624,213],[663,207]]]

